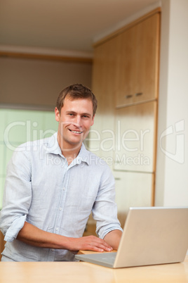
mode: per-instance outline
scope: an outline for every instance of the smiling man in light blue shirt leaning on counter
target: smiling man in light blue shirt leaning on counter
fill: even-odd
[[[18,147],[8,164],[0,228],[2,261],[74,260],[79,250],[117,249],[122,229],[107,164],[83,145],[97,101],[81,84],[58,97],[58,133]],[[99,237],[83,237],[90,212]]]

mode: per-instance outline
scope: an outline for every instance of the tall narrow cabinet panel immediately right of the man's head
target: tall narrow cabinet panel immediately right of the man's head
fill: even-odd
[[[90,129],[89,149],[112,167],[114,149],[114,76],[116,40],[95,48],[92,89],[98,99],[94,125]]]

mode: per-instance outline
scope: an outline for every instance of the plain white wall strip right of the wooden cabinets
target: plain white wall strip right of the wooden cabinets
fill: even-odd
[[[162,0],[161,8],[155,204],[188,206],[188,1]]]

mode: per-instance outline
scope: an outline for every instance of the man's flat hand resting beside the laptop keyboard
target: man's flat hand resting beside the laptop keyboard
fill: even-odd
[[[112,251],[112,246],[109,246],[106,241],[95,237],[87,236],[81,238],[68,238],[69,251]]]

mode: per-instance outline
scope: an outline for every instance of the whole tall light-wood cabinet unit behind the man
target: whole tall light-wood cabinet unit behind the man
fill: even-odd
[[[112,168],[122,227],[130,206],[154,205],[159,27],[156,9],[94,50],[98,110],[88,144]]]

